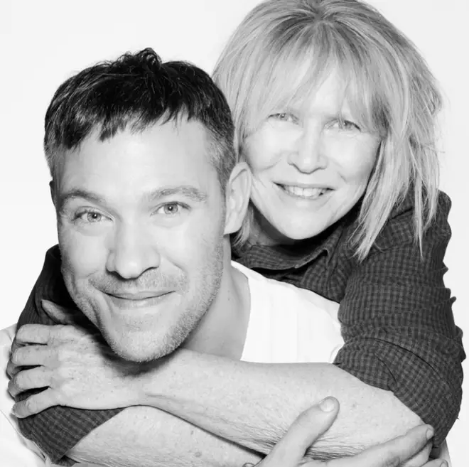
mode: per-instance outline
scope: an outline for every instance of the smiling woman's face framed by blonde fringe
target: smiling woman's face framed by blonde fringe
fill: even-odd
[[[334,73],[309,102],[271,114],[244,144],[258,241],[314,237],[342,218],[365,192],[379,142],[360,128]]]

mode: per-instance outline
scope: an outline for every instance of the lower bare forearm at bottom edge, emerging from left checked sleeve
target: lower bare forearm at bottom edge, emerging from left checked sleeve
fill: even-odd
[[[128,407],[93,429],[67,456],[109,467],[241,467],[259,453],[153,407]]]

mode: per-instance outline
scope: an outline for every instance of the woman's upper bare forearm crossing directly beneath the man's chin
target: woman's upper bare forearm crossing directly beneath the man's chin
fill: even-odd
[[[245,363],[181,349],[143,384],[142,404],[262,453],[328,395],[340,400],[340,414],[315,444],[318,458],[361,451],[421,423],[392,392],[328,363]]]

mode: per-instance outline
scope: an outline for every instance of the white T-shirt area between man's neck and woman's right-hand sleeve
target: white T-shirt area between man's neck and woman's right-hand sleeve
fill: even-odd
[[[237,262],[251,292],[241,360],[257,363],[332,362],[344,341],[339,304],[306,289],[267,279]]]

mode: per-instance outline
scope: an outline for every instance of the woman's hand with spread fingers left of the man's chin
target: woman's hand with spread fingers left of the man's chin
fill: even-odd
[[[7,372],[13,397],[47,388],[16,402],[16,417],[48,407],[114,409],[139,403],[140,365],[117,357],[97,332],[71,324],[72,311],[43,302],[48,314],[63,324],[26,324],[16,333]]]

